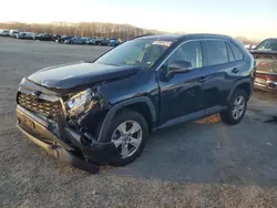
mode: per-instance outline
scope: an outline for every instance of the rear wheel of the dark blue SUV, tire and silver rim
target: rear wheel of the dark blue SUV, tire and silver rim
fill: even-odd
[[[246,112],[248,96],[245,91],[236,90],[230,98],[228,108],[220,113],[222,121],[225,124],[238,124]]]

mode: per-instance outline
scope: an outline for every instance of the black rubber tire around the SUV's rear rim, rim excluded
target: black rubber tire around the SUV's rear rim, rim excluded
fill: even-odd
[[[242,115],[239,117],[235,118],[234,115],[233,115],[233,108],[234,108],[234,105],[235,105],[235,101],[239,96],[244,97],[245,106],[244,106],[244,110],[242,111]],[[238,124],[243,119],[243,117],[245,115],[245,112],[246,112],[246,108],[247,108],[247,101],[248,101],[247,93],[245,91],[243,91],[243,90],[236,90],[234,92],[232,98],[230,98],[230,102],[228,104],[227,110],[220,113],[222,121],[225,124],[228,124],[228,125],[236,125],[236,124]]]

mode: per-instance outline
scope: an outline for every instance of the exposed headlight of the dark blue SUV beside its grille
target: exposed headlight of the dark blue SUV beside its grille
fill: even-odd
[[[65,102],[69,113],[72,114],[78,112],[84,112],[85,106],[91,102],[93,96],[95,96],[95,94],[92,92],[91,89],[88,89],[70,97]]]

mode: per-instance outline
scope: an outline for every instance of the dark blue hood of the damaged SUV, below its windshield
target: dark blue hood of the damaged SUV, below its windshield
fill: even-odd
[[[28,80],[49,87],[69,90],[90,85],[102,81],[117,80],[134,74],[141,69],[137,66],[114,66],[99,63],[76,62],[45,67]]]

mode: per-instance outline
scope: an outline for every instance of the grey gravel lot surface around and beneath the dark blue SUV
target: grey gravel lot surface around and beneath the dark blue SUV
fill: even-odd
[[[0,207],[277,207],[277,100],[255,93],[237,126],[217,116],[155,134],[99,175],[49,157],[14,127],[20,80],[107,48],[0,38]],[[276,95],[275,95],[276,96]]]

